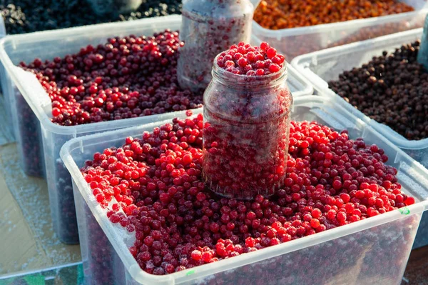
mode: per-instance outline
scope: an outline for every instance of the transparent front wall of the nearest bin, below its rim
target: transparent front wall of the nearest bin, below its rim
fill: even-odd
[[[183,284],[400,284],[420,216]]]

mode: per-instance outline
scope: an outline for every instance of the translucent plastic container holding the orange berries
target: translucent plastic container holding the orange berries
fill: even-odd
[[[424,0],[399,1],[409,4],[415,11],[280,30],[265,29],[253,21],[253,34],[260,40],[270,43],[286,56],[287,61],[291,61],[295,56],[312,51],[424,26],[425,15],[428,13],[427,2]]]

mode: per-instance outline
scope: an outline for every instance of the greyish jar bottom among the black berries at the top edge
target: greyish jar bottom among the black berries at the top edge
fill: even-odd
[[[99,16],[117,15],[138,9],[143,0],[86,0]]]

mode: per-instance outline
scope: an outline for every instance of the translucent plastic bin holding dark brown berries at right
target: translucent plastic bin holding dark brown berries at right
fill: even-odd
[[[347,103],[334,91],[328,88],[327,81],[335,80],[343,71],[351,70],[372,60],[373,56],[382,55],[382,51],[392,52],[405,43],[416,41],[422,36],[422,29],[404,31],[397,34],[382,36],[377,39],[360,41],[359,43],[338,46],[332,49],[316,51],[311,54],[297,56],[292,65],[300,71],[313,85],[317,94],[328,96],[347,111],[370,124],[395,146],[405,151],[413,159],[428,167],[428,139],[410,141],[384,124],[370,119],[351,104]],[[426,217],[425,217],[426,216]],[[422,219],[421,234],[418,234],[415,246],[428,244],[428,215]],[[425,229],[425,230],[423,230]],[[422,234],[424,231],[424,234]]]

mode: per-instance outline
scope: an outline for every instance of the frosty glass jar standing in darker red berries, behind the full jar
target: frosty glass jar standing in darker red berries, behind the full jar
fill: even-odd
[[[240,41],[250,42],[249,0],[184,0],[177,76],[183,89],[200,91],[211,81],[213,59]]]

